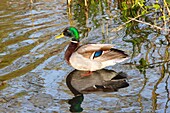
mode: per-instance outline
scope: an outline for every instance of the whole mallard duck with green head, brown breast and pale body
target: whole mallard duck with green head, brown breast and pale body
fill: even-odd
[[[64,36],[71,38],[65,60],[77,70],[92,72],[128,59],[124,51],[113,48],[112,44],[80,45],[79,32],[75,27],[65,28],[56,39]]]

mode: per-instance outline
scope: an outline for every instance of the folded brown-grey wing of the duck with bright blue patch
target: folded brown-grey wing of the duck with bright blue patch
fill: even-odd
[[[128,55],[118,49],[114,49],[112,44],[87,44],[83,45],[77,50],[78,54],[81,54],[85,58],[91,60],[104,62],[113,59],[124,59]]]

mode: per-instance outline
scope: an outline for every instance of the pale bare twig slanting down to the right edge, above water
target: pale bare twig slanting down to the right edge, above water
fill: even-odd
[[[153,27],[153,28],[156,28],[156,29],[159,29],[159,30],[170,31],[170,29],[161,28],[161,27],[159,27],[159,26],[152,25],[152,24],[150,24],[150,23],[143,22],[143,21],[137,20],[137,19],[135,19],[135,18],[130,18],[130,17],[129,17],[129,19],[130,19],[131,21],[136,21],[136,22],[139,22],[139,23],[143,23],[143,24],[149,25],[149,26],[151,26],[151,27]]]

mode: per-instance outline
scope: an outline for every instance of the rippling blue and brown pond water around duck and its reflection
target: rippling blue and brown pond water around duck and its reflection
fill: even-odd
[[[122,27],[128,13],[113,0],[91,0],[88,7],[82,1],[69,7],[65,0],[1,0],[0,112],[70,112],[75,98],[66,77],[74,69],[63,59],[69,40],[54,38],[68,26],[80,31],[82,43],[110,43],[130,56],[107,68],[126,73],[129,87],[79,95],[79,111],[170,112],[169,32],[137,22]]]

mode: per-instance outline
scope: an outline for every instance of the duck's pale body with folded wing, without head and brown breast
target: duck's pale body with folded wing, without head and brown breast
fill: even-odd
[[[87,44],[80,46],[70,57],[77,70],[96,71],[127,59],[124,51],[113,49],[112,44]]]

